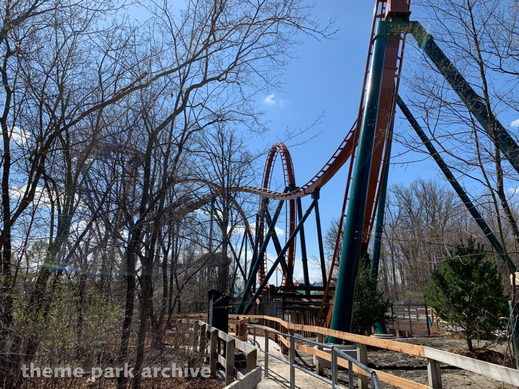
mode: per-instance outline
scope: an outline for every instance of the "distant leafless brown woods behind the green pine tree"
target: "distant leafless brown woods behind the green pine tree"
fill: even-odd
[[[494,258],[509,290],[508,267],[447,183],[417,178],[409,185],[392,185],[386,204],[379,287],[388,299],[423,301],[433,272],[441,269],[442,262],[452,259],[450,252],[468,240],[480,244]],[[495,217],[490,212],[482,214],[494,229]],[[514,247],[513,235],[507,232],[506,243]],[[515,256],[512,258],[515,262]]]

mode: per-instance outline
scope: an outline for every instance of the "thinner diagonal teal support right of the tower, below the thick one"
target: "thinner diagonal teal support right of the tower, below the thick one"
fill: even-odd
[[[413,114],[411,113],[409,108],[407,108],[407,106],[405,105],[404,101],[400,98],[400,96],[398,96],[397,103],[398,103],[400,110],[402,111],[404,116],[409,121],[409,124],[411,124],[411,127],[413,127],[413,129],[416,131],[416,133],[420,137],[420,140],[422,141],[422,143],[424,143],[425,147],[429,151],[429,154],[432,156],[432,158],[434,158],[434,160],[438,164],[440,170],[445,175],[445,178],[447,178],[447,181],[450,183],[450,185],[456,191],[459,198],[461,199],[461,201],[463,201],[463,204],[465,204],[465,206],[467,207],[467,210],[470,212],[470,214],[476,221],[477,225],[480,226],[481,230],[483,231],[485,236],[490,241],[490,244],[494,247],[495,251],[499,253],[499,255],[501,256],[503,261],[505,263],[507,263],[507,258],[504,257],[503,246],[501,246],[501,243],[497,239],[496,235],[494,235],[494,232],[490,229],[490,227],[488,227],[485,219],[483,219],[483,216],[481,216],[480,212],[477,210],[474,203],[472,203],[472,201],[470,200],[469,196],[467,195],[467,192],[465,191],[465,189],[463,189],[461,187],[461,185],[459,185],[456,177],[454,177],[452,172],[450,172],[450,169],[448,168],[447,164],[444,162],[443,158],[440,156],[438,151],[436,151],[436,148],[431,143],[431,141],[427,137],[426,133],[424,132],[424,130],[422,130],[422,128],[420,127],[420,124],[418,124],[418,122],[414,118]],[[514,272],[517,271],[517,268],[515,267],[514,263],[510,260],[510,258],[508,259],[508,263]]]

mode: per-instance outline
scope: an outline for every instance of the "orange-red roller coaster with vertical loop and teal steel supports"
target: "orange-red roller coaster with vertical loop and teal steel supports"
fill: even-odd
[[[376,0],[358,117],[332,157],[313,178],[301,187],[296,186],[290,152],[283,143],[276,143],[267,155],[263,186],[233,188],[233,190],[253,193],[260,197],[254,235],[246,223],[246,233],[243,238],[243,243],[246,240],[249,241],[252,251],[248,270],[241,268],[239,256],[235,255],[245,281],[244,293],[236,310],[237,314],[249,312],[255,301],[265,292],[270,277],[279,266],[281,266],[283,274],[281,289],[294,289],[292,273],[297,235],[301,248],[304,283],[306,286],[309,285],[304,225],[313,211],[316,218],[319,259],[324,285],[324,295],[316,325],[339,331],[349,332],[351,330],[353,297],[359,265],[361,261],[366,264],[371,263],[373,274],[376,275],[378,271],[388,166],[391,158],[393,123],[397,105],[474,217],[495,252],[508,263],[511,271],[516,271],[514,263],[504,256],[499,240],[398,94],[406,36],[413,36],[418,47],[434,63],[439,73],[445,77],[450,87],[467,105],[472,116],[480,122],[488,134],[490,136],[497,134],[503,155],[518,173],[519,146],[497,117],[487,112],[483,100],[449,61],[435,43],[432,35],[428,34],[419,22],[409,20],[410,16],[407,0]],[[283,192],[270,189],[278,155],[281,157],[284,174],[285,190]],[[331,267],[329,273],[325,274],[319,191],[344,165],[348,166],[344,201]],[[311,196],[312,202],[303,213],[301,199],[305,196]],[[208,196],[206,199],[200,200],[198,205],[208,203],[210,200],[211,196]],[[268,209],[270,201],[278,202],[272,215]],[[287,231],[284,244],[280,242],[275,233],[283,206],[286,210],[285,227]],[[371,239],[374,241],[370,255],[368,246]],[[277,258],[268,268],[266,250],[270,241],[275,246]],[[335,278],[337,267],[338,275]],[[335,293],[332,298],[333,287]],[[309,294],[309,291],[306,290],[305,293]],[[330,299],[333,309],[326,310],[325,307],[330,305],[327,304],[327,301]],[[333,341],[333,339],[330,340],[330,342]]]

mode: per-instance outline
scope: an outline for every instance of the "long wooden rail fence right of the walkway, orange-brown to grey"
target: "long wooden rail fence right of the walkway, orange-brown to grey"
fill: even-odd
[[[288,334],[293,335],[294,331],[299,331],[300,334],[305,332],[313,332],[315,334],[333,336],[338,339],[347,340],[350,342],[357,343],[358,345],[358,354],[360,357],[358,358],[360,362],[367,364],[367,359],[364,359],[362,354],[364,353],[365,346],[373,346],[380,349],[396,351],[400,353],[416,355],[419,357],[427,358],[427,366],[428,366],[428,379],[429,385],[420,384],[418,382],[406,380],[404,378],[400,378],[397,376],[393,376],[392,374],[388,374],[382,371],[375,370],[377,373],[377,377],[379,381],[386,382],[388,384],[401,387],[403,389],[441,389],[442,388],[442,378],[441,378],[441,370],[440,370],[440,362],[456,366],[461,369],[465,369],[468,371],[472,371],[477,374],[481,374],[482,376],[505,382],[511,385],[519,386],[519,371],[515,369],[511,369],[504,366],[499,366],[495,364],[491,364],[488,362],[483,362],[481,360],[469,358],[462,355],[457,355],[453,353],[449,353],[447,351],[432,349],[425,346],[418,346],[414,344],[407,344],[396,342],[393,340],[386,339],[377,339],[372,337],[366,337],[362,335],[350,334],[349,332],[335,331],[329,328],[322,328],[316,326],[306,326],[299,324],[290,324],[286,323],[282,319],[277,317],[270,317],[265,315],[250,315],[249,318],[256,319],[264,319],[264,321],[271,321],[275,323],[279,323],[281,325],[280,332],[288,332]],[[265,328],[272,328],[268,326],[262,326]],[[274,328],[272,328],[274,329]],[[282,350],[290,349],[290,342],[286,340],[284,337],[280,337],[280,342],[282,344]],[[359,346],[360,345],[360,346]],[[315,355],[322,359],[326,359],[331,361],[331,355],[325,351],[321,351],[318,348],[312,348],[308,346],[304,346],[302,344],[296,344],[295,349],[298,351],[302,351],[308,354]],[[348,361],[342,358],[337,358],[337,364],[339,366],[348,368]],[[353,365],[353,371],[360,374],[361,376],[366,376],[367,373],[363,370],[359,369],[357,366]],[[360,386],[364,388],[367,384],[367,380],[359,380]]]

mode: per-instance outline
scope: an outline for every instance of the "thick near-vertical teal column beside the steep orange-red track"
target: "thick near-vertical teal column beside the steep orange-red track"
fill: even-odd
[[[362,230],[364,227],[367,190],[370,181],[386,41],[386,22],[380,21],[377,23],[376,34],[373,38],[373,59],[370,67],[370,81],[366,94],[364,113],[362,115],[359,145],[357,147],[357,161],[355,162],[351,182],[348,217],[346,218],[346,226],[344,229],[335,303],[330,327],[338,331],[351,331],[353,298],[355,296],[357,273],[359,271]],[[342,343],[342,340],[330,337],[329,342]]]

